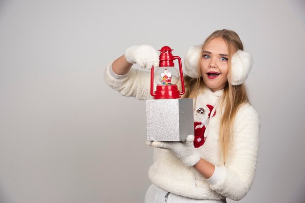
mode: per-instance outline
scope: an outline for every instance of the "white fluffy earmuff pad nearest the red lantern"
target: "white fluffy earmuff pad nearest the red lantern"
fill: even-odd
[[[198,74],[198,63],[201,57],[201,47],[200,45],[191,46],[184,58],[184,68],[186,74],[191,78],[199,78]]]

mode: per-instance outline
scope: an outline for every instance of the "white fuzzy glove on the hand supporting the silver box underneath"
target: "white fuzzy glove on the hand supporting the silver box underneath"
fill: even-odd
[[[148,142],[150,146],[171,150],[181,161],[191,167],[200,160],[199,152],[194,148],[194,135],[188,135],[183,142]]]

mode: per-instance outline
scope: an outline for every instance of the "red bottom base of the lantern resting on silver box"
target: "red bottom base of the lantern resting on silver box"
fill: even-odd
[[[178,99],[180,91],[177,85],[157,85],[153,99]]]

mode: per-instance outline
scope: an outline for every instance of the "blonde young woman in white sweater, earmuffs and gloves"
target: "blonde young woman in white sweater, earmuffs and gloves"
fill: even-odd
[[[124,96],[152,99],[150,74],[158,53],[133,46],[105,70],[105,81]],[[184,142],[149,142],[155,147],[149,169],[153,185],[146,203],[225,203],[250,189],[258,154],[259,116],[244,82],[252,66],[239,36],[229,30],[210,34],[185,57],[185,97],[193,98],[195,135]]]

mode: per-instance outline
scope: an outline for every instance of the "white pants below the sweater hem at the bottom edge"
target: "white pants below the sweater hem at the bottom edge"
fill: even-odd
[[[156,185],[151,185],[144,203],[227,203],[226,200],[197,200],[169,193]]]

